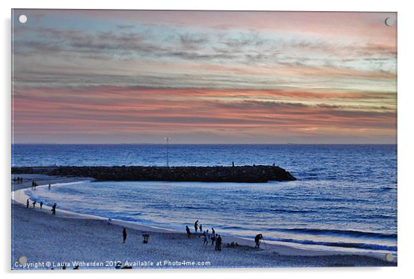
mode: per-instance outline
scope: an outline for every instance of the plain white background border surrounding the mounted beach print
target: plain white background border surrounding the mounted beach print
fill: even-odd
[[[155,278],[191,277],[191,278],[209,278],[216,279],[222,276],[237,276],[238,278],[250,278],[258,273],[263,278],[274,278],[280,276],[289,276],[290,278],[404,278],[411,271],[411,259],[413,258],[413,218],[412,212],[414,197],[414,186],[411,183],[411,161],[413,154],[413,132],[411,129],[411,121],[414,120],[413,102],[413,30],[414,27],[409,1],[265,1],[265,0],[209,0],[209,1],[190,1],[190,0],[153,0],[153,1],[108,1],[108,0],[14,0],[1,1],[1,19],[2,19],[2,44],[1,56],[3,67],[1,67],[1,175],[3,193],[3,230],[2,230],[2,246],[1,252],[1,269],[10,276],[10,9],[11,8],[82,8],[82,9],[153,9],[153,10],[315,10],[315,11],[369,11],[369,12],[398,12],[398,267],[376,267],[376,268],[306,268],[306,269],[186,269],[186,270],[146,270],[125,272],[121,271],[121,276],[151,276]],[[72,271],[73,272],[73,271]],[[17,277],[42,276],[43,278],[51,278],[52,276],[72,276],[71,271],[63,272],[47,272],[39,274],[39,272],[13,272]],[[98,271],[82,271],[78,272],[78,276],[86,278],[91,273]],[[58,273],[58,274],[57,274]],[[116,272],[116,273],[119,273]],[[113,277],[114,272],[99,271],[99,276],[104,278]]]

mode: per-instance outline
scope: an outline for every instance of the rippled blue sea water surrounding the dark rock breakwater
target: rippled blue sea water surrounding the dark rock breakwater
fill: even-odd
[[[173,166],[273,164],[298,181],[92,182],[27,190],[59,208],[323,249],[397,251],[395,145],[171,145]],[[13,166],[166,164],[162,145],[14,145]]]

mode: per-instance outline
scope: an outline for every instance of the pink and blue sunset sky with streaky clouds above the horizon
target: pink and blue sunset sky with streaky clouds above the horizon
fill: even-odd
[[[13,10],[12,141],[395,144],[387,17]]]

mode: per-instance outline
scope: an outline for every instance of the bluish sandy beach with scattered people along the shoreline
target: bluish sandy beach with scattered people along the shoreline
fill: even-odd
[[[76,177],[47,177],[45,175],[14,175],[34,179],[39,185],[79,181]],[[82,178],[85,180],[85,178]],[[12,190],[31,187],[31,182],[12,184]],[[64,187],[64,186],[62,186]],[[57,210],[39,205],[25,208],[21,191],[12,193],[12,269],[61,269],[74,262],[80,269],[114,269],[117,261],[129,263],[133,269],[142,268],[217,268],[217,267],[354,267],[396,266],[386,262],[383,255],[360,255],[298,249],[283,245],[261,245],[241,238],[222,236],[221,252],[215,251],[203,238],[183,232],[146,227],[135,223],[107,220]],[[122,243],[122,228],[127,227],[127,242]],[[193,231],[193,225],[188,223]],[[150,234],[149,243],[142,243],[142,234]],[[226,247],[237,242],[238,247]],[[25,256],[25,266],[17,260]],[[50,265],[49,265],[50,264]],[[28,266],[30,265],[30,266]],[[89,265],[89,266],[83,266]],[[101,266],[103,265],[103,266]]]

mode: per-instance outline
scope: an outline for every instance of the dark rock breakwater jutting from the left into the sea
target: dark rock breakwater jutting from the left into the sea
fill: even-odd
[[[294,181],[279,166],[56,166],[12,167],[12,174],[93,177],[98,181],[199,181],[246,182]]]

